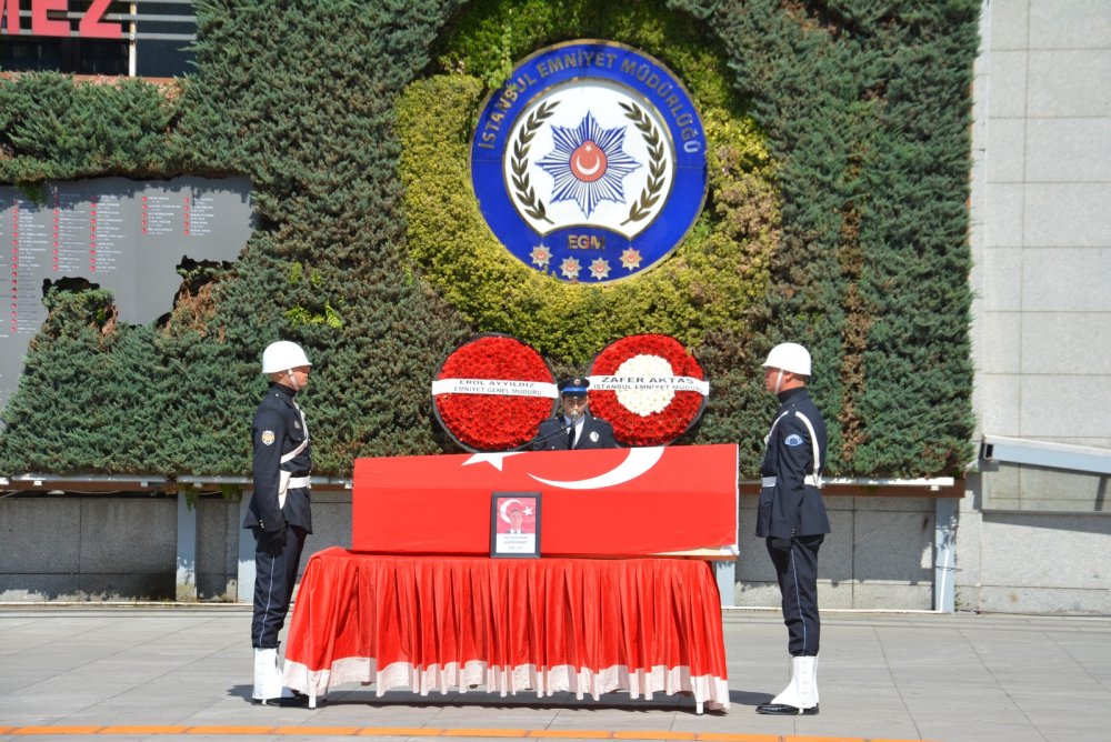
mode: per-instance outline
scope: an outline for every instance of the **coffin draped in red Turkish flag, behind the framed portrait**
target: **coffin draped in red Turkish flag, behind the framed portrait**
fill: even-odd
[[[491,495],[539,492],[543,555],[735,553],[737,447],[358,459],[353,551],[489,554]]]

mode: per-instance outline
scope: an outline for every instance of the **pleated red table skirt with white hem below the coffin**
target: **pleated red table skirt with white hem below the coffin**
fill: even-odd
[[[286,649],[286,685],[427,694],[690,693],[729,708],[718,586],[681,559],[312,555]]]

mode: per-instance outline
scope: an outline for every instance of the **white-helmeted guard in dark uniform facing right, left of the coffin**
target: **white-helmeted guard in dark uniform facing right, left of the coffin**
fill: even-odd
[[[312,364],[297,343],[271,343],[262,352],[262,373],[270,388],[254,412],[254,492],[243,528],[254,533],[254,703],[293,702],[282,688],[278,665],[278,633],[293,596],[304,537],[312,533],[309,508],[309,428],[294,400],[309,382]]]

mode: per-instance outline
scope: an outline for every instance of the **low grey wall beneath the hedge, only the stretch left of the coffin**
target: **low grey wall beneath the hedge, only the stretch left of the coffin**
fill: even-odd
[[[253,539],[241,527],[240,498],[189,500],[197,533],[189,589],[201,601],[249,601],[251,585],[240,591],[240,554],[246,549],[253,559]],[[179,515],[174,494],[0,499],[0,602],[177,600]],[[314,493],[312,515],[306,559],[351,545],[350,493]]]

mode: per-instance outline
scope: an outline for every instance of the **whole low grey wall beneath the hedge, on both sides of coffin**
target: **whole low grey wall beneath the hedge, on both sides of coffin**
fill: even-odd
[[[0,602],[171,601],[177,593],[178,495],[36,493],[0,500]],[[184,497],[184,495],[181,495]],[[196,598],[249,601],[253,540],[238,498],[209,495],[196,509]],[[763,540],[751,535],[755,497],[741,498],[738,605],[779,604]],[[929,610],[933,601],[934,500],[831,497],[834,533],[822,547],[825,608]],[[189,515],[184,515],[189,518]],[[313,492],[306,558],[351,544],[350,492]],[[43,533],[52,534],[43,539]],[[242,555],[242,556],[241,556]],[[241,590],[240,578],[246,583]]]

